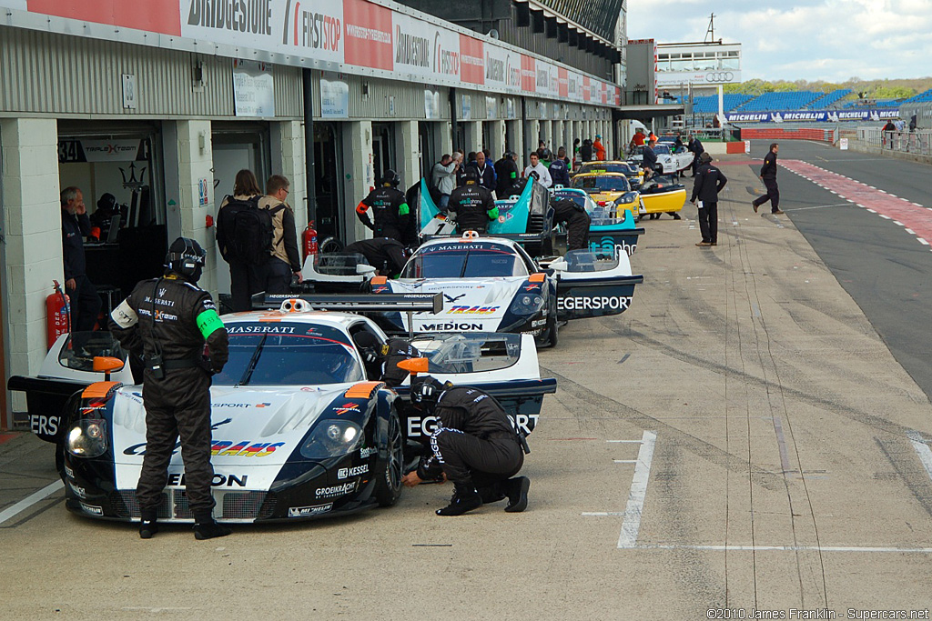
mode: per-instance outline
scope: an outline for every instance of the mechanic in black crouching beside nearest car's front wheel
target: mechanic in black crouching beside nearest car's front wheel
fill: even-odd
[[[453,481],[453,498],[437,509],[438,516],[459,516],[506,496],[509,513],[528,507],[530,479],[514,477],[524,465],[527,444],[498,401],[477,388],[441,384],[424,375],[411,381],[411,403],[432,412],[438,426],[431,436],[432,454],[422,457],[403,482],[414,487],[441,475]]]

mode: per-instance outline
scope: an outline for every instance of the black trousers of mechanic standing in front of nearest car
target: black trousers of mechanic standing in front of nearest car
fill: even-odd
[[[211,494],[211,379],[200,369],[165,371],[162,380],[145,371],[145,455],[136,485],[136,499],[144,520],[158,510],[159,494],[168,483],[171,453],[181,437],[185,491],[195,518],[210,516]]]

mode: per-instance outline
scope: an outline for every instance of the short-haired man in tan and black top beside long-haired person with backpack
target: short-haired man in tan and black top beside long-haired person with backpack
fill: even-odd
[[[297,250],[295,212],[286,199],[291,182],[281,175],[272,175],[266,182],[266,196],[259,200],[259,209],[267,209],[272,221],[271,258],[266,266],[266,292],[290,293],[292,275],[301,282],[301,253]]]

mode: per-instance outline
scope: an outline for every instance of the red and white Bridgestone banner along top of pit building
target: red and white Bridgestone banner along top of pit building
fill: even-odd
[[[475,85],[596,105],[621,103],[621,90],[613,84],[369,0],[0,0],[0,8],[11,11],[7,25],[62,34],[85,32],[81,22],[100,23],[235,46],[240,58],[249,48],[281,54],[286,64],[300,66],[301,59],[333,63],[326,68],[349,74]],[[17,20],[17,13],[74,23]],[[177,48],[173,44],[170,38],[158,43]]]

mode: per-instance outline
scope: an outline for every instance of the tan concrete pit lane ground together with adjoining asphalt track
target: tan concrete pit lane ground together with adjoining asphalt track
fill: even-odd
[[[914,176],[782,146],[877,187]],[[716,248],[693,246],[692,206],[645,222],[631,308],[541,351],[558,388],[526,512],[441,519],[450,486],[430,485],[347,519],[142,541],[64,510],[51,445],[0,436],[0,618],[929,618],[932,404],[888,348],[927,341],[900,335],[921,311],[884,316],[925,306],[932,252],[788,169],[787,215],[754,214],[765,148],[720,158]],[[884,189],[925,204],[921,183]]]

